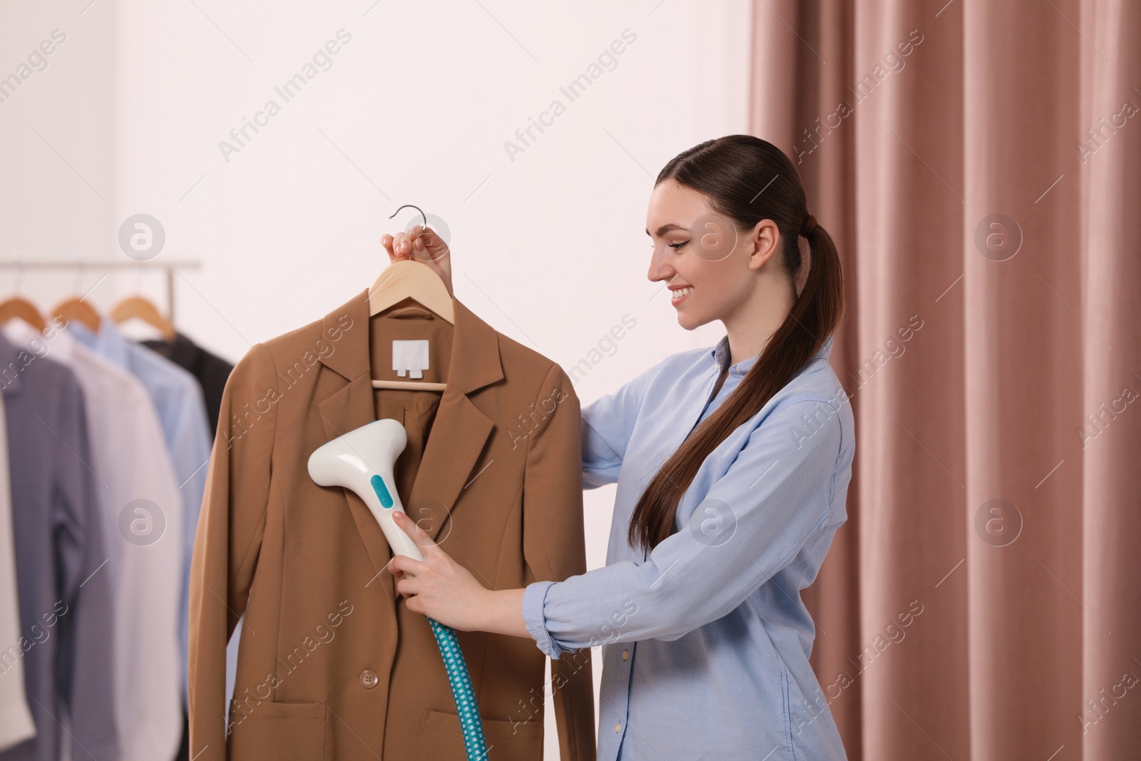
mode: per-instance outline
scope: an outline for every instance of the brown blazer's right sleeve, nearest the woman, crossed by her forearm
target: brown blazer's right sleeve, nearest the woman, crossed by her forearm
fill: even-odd
[[[535,408],[547,416],[527,444],[523,485],[524,558],[536,581],[585,573],[582,520],[581,410],[564,370],[553,364]],[[590,649],[551,661],[551,688],[563,761],[594,761],[594,680]]]

